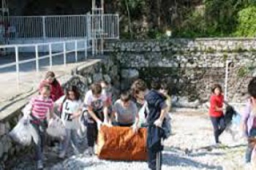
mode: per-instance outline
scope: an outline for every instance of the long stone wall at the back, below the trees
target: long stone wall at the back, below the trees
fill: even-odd
[[[132,79],[159,77],[171,85],[171,93],[190,101],[207,101],[211,85],[225,85],[229,64],[228,101],[244,102],[246,85],[255,72],[256,39],[169,39],[165,41],[115,42],[110,45],[123,73]],[[128,76],[129,77],[129,76]],[[127,74],[123,88],[129,86]]]

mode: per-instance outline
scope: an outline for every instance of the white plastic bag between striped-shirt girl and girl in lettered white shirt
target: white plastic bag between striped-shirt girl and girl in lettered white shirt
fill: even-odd
[[[63,139],[66,136],[66,128],[61,118],[56,115],[50,118],[46,132],[50,136]]]

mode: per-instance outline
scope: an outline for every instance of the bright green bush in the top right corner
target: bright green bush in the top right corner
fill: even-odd
[[[256,6],[249,6],[238,12],[236,36],[256,36]]]

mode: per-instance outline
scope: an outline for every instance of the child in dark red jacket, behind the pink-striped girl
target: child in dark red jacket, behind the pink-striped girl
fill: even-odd
[[[61,96],[64,95],[61,85],[59,84],[58,80],[56,80],[55,74],[53,72],[49,71],[46,73],[45,80],[40,82],[39,88],[45,83],[50,85],[50,98],[53,101],[57,101]]]

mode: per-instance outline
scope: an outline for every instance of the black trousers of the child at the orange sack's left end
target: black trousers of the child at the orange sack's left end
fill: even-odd
[[[87,141],[89,147],[94,147],[94,144],[97,141],[98,129],[97,123],[88,123],[87,124]]]

